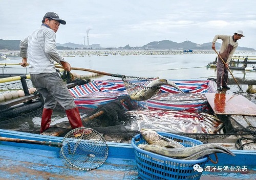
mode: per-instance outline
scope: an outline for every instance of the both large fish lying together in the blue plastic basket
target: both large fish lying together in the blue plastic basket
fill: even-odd
[[[230,150],[215,143],[185,147],[179,142],[165,138],[153,130],[142,129],[140,133],[148,144],[139,144],[139,148],[170,158],[197,160],[212,153],[220,152],[235,156]]]

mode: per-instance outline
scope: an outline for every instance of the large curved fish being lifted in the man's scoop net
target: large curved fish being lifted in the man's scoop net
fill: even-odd
[[[142,90],[135,91],[134,93],[131,93],[129,95],[133,100],[147,100],[154,96],[160,90],[160,87],[162,85],[173,86],[174,88],[180,90],[183,94],[185,94],[174,82],[164,79],[157,79],[146,85],[146,87]]]

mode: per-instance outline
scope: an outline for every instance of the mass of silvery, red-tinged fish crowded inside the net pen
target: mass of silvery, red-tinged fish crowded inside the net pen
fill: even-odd
[[[224,124],[214,115],[189,111],[127,111],[132,130],[148,128],[169,133],[224,134]]]

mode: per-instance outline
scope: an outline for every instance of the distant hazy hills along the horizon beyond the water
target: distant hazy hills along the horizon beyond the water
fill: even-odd
[[[19,42],[20,40],[3,40],[0,39],[0,50],[19,50]],[[57,49],[70,50],[70,49],[86,49],[83,44],[74,44],[74,43],[65,43],[59,44],[56,43]],[[219,49],[221,43],[215,44],[216,48]],[[124,47],[111,47],[111,48],[100,48],[100,49],[201,49],[207,50],[211,49],[211,42],[197,44],[191,41],[184,41],[181,43],[177,43],[170,40],[162,40],[162,41],[153,41],[143,46],[131,47],[129,44]],[[238,46],[237,50],[255,50],[250,47],[240,47]]]

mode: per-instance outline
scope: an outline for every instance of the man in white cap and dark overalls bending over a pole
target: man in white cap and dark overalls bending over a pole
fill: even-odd
[[[225,61],[225,64],[222,62],[220,57],[218,56],[217,61],[217,90],[222,91],[224,89],[230,89],[227,86],[228,80],[228,64],[230,63],[234,52],[238,47],[238,40],[244,37],[244,32],[238,30],[234,33],[234,35],[215,35],[214,39],[212,40],[212,49],[215,49],[215,42],[218,39],[222,40],[221,48],[219,55]],[[221,88],[222,85],[222,88]]]

